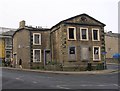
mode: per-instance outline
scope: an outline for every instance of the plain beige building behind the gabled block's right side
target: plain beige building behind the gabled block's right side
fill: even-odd
[[[106,47],[106,61],[114,61],[113,55],[120,53],[120,34],[112,33],[112,31],[105,33],[105,47]]]

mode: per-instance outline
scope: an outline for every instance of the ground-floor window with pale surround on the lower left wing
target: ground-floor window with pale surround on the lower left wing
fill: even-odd
[[[41,49],[33,49],[33,62],[41,62]]]

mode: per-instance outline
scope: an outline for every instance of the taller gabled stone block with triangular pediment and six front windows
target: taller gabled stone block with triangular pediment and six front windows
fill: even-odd
[[[52,60],[63,64],[64,69],[93,68],[104,63],[105,24],[87,14],[61,21],[51,28]]]

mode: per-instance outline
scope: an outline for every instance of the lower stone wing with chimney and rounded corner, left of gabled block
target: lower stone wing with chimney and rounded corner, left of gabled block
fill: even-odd
[[[43,66],[45,57],[51,60],[50,55],[50,29],[25,26],[25,21],[21,21],[13,35],[14,67],[19,67],[20,59],[23,68]]]

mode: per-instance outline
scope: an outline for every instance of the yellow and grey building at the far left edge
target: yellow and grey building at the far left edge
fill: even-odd
[[[4,27],[0,27],[0,31],[1,31],[1,37],[0,37],[0,41],[1,44],[0,46],[2,48],[0,48],[0,53],[2,55],[2,60],[5,63],[8,63],[11,61],[12,58],[12,36],[15,32],[15,29],[13,28],[4,28]]]

